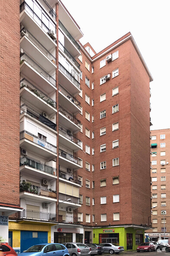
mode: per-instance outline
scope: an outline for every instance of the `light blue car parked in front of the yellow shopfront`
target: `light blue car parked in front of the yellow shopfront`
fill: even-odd
[[[31,246],[18,256],[69,256],[69,251],[60,243],[42,243]]]

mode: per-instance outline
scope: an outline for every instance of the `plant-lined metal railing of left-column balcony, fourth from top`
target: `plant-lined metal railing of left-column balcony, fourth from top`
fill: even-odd
[[[40,91],[36,86],[34,86],[32,83],[30,83],[28,80],[23,78],[20,81],[20,89],[23,87],[26,87],[29,89],[29,91],[32,91],[36,96],[41,98],[43,101],[45,101],[47,104],[51,105],[53,108],[56,108],[56,101],[53,101],[49,96],[47,96],[45,93]]]

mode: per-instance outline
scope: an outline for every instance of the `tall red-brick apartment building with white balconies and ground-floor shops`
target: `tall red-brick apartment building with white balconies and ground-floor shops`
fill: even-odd
[[[131,33],[97,54],[60,0],[3,10],[0,218],[11,215],[0,236],[18,252],[135,249],[150,217],[152,77]]]

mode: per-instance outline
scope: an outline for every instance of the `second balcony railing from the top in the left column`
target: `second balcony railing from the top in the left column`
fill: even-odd
[[[21,38],[23,36],[26,36],[44,55],[46,55],[47,58],[50,59],[50,61],[55,60],[56,57],[54,57],[37,39],[34,37],[29,30],[27,30],[25,27],[20,30]]]

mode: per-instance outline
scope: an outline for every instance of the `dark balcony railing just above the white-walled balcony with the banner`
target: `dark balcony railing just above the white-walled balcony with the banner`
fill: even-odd
[[[22,115],[23,113],[26,113],[27,115],[56,131],[55,123],[50,121],[48,118],[45,118],[43,115],[39,114],[37,111],[35,111],[33,108],[30,108],[26,104],[20,106],[20,115]]]

